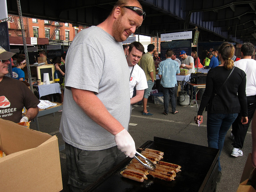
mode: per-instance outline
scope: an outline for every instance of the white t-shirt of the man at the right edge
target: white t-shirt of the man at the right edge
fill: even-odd
[[[234,62],[234,66],[246,73],[246,96],[256,95],[256,60],[240,59]]]

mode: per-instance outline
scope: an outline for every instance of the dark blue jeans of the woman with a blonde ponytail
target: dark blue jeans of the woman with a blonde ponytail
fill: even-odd
[[[236,120],[238,113],[234,114],[217,114],[207,113],[207,139],[208,147],[219,149],[220,154],[223,148],[224,139],[230,126]],[[218,157],[219,167],[221,171],[220,155]]]

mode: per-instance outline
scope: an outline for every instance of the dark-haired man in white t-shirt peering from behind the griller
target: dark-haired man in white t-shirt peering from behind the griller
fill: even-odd
[[[127,63],[130,70],[130,98],[131,105],[142,100],[144,90],[148,88],[147,78],[145,72],[137,65],[142,53],[144,52],[144,46],[140,42],[132,42],[127,50]],[[134,87],[136,87],[136,95],[133,96]]]

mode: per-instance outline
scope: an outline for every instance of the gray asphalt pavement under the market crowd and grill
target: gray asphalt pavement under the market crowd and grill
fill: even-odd
[[[200,102],[200,101],[199,101]],[[154,136],[177,140],[181,142],[207,146],[206,136],[206,119],[207,112],[204,112],[204,122],[198,127],[194,123],[196,116],[196,106],[180,106],[177,105],[178,114],[162,114],[163,105],[156,105],[152,100],[148,102],[148,110],[153,116],[142,116],[142,106],[133,106],[132,117],[130,120],[129,132],[134,138],[136,148],[139,148],[148,140],[154,140]],[[170,106],[169,106],[170,107]],[[56,112],[55,116],[49,114],[38,118],[40,131],[58,137],[60,148],[60,163],[62,169],[62,192],[68,192],[67,188],[67,172],[66,172],[66,156],[64,149],[64,141],[59,133],[60,118],[62,112]],[[30,128],[36,130],[36,124],[32,123]],[[240,178],[246,163],[247,156],[252,152],[252,135],[251,126],[248,130],[242,157],[230,156],[232,152],[232,140],[230,139],[231,130],[228,131],[224,142],[224,148],[220,157],[222,165],[222,179],[217,183],[217,192],[236,192],[240,183]]]

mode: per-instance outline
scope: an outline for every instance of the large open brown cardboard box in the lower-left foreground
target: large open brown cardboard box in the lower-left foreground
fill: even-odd
[[[62,190],[58,139],[0,119],[0,191]]]

